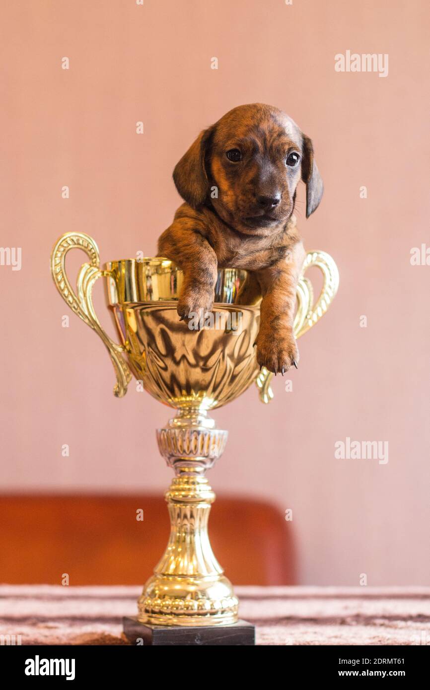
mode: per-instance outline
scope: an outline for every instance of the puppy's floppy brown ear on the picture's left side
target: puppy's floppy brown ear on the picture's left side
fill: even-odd
[[[200,132],[173,170],[173,181],[179,194],[193,208],[201,206],[208,193],[206,156],[213,130],[214,126]]]

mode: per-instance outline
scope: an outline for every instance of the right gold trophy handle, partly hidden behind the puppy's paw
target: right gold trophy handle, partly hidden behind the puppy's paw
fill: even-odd
[[[324,284],[315,304],[313,304],[311,281],[304,277],[304,273],[311,266],[320,268],[324,277]],[[324,316],[338,292],[338,287],[339,271],[334,259],[326,252],[319,250],[308,252],[304,259],[302,276],[297,284],[297,312],[294,318],[294,335],[296,338],[300,338],[306,331],[309,331],[309,328],[312,328]],[[273,373],[263,367],[255,380],[260,389],[260,400],[264,403],[270,402],[273,398],[270,385],[272,377]]]

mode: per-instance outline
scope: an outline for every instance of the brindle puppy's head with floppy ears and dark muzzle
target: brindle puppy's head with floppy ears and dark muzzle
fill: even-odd
[[[270,235],[285,224],[300,179],[306,184],[306,218],[323,191],[311,139],[282,110],[262,103],[234,108],[201,132],[173,179],[193,208],[211,204],[246,235]]]

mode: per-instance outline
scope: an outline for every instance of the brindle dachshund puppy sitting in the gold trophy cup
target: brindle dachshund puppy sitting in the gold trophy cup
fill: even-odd
[[[307,218],[323,190],[311,139],[278,108],[233,108],[175,167],[173,180],[186,203],[158,243],[159,256],[184,270],[177,304],[182,319],[211,311],[218,268],[251,272],[239,299],[253,304],[263,298],[257,362],[282,374],[299,361],[293,317],[305,253],[292,214],[300,179]]]

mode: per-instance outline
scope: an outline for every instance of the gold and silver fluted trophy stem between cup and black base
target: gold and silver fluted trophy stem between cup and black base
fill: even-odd
[[[224,450],[226,436],[202,413],[179,413],[157,431],[160,452],[176,476],[165,494],[170,538],[139,598],[141,622],[187,626],[237,622],[233,586],[209,542],[208,517],[215,493],[204,476]]]

